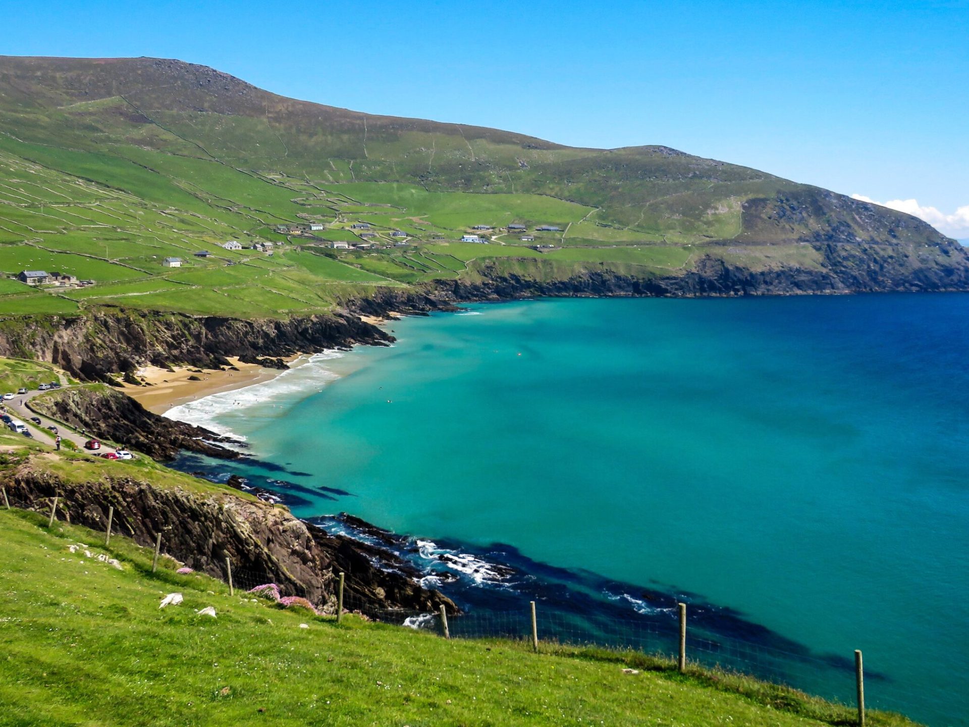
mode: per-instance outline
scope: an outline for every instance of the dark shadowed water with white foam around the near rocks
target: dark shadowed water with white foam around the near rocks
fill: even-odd
[[[170,466],[291,508],[355,496],[347,490],[279,479],[279,474],[304,473],[250,458],[231,462],[182,453]],[[345,513],[308,521],[385,549],[412,565],[422,585],[442,590],[461,608],[464,615],[451,624],[454,635],[519,638],[530,628],[528,602],[536,601],[544,639],[672,654],[678,648],[677,605],[682,602],[688,606],[691,658],[825,696],[850,697],[845,685],[852,683],[851,659],[815,653],[734,609],[708,603],[697,593],[562,568],[533,560],[504,543],[480,547],[454,539],[398,535]],[[888,681],[872,671],[865,677]]]

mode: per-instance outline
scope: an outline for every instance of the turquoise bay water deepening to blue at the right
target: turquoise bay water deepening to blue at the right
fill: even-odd
[[[469,310],[182,414],[351,493],[300,517],[689,592],[967,723],[969,296]]]

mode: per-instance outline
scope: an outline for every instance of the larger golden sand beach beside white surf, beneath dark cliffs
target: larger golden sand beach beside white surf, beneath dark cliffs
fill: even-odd
[[[298,356],[292,356],[286,359],[286,362],[290,364],[298,358]],[[266,368],[259,364],[243,364],[232,357],[229,361],[238,369],[237,371],[201,369],[200,373],[200,369],[194,366],[172,366],[175,369],[172,372],[158,366],[144,366],[137,371],[136,376],[150,386],[125,384],[124,391],[125,394],[137,399],[148,411],[164,414],[173,406],[186,401],[221,392],[231,392],[234,389],[268,381],[283,370]],[[189,379],[191,376],[196,376],[200,380],[192,381]]]

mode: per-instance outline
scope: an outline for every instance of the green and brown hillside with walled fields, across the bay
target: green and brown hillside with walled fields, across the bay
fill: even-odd
[[[175,60],[0,57],[0,130],[0,243],[12,245],[0,272],[64,268],[98,283],[51,297],[4,281],[0,314],[108,303],[290,315],[413,286],[446,296],[969,287],[953,240],[817,187],[665,146],[573,148],[336,109]],[[322,229],[288,229],[308,223]],[[457,243],[476,224],[496,228],[491,244]],[[391,246],[401,238],[409,246]],[[227,239],[290,245],[270,259],[226,252]],[[327,240],[376,249],[321,262],[307,245]],[[170,256],[194,269],[164,269]]]

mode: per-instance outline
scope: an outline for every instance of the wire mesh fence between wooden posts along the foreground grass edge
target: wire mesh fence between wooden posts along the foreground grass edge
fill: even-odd
[[[672,615],[619,618],[614,613],[607,615],[594,609],[581,613],[562,610],[546,602],[539,602],[533,612],[525,600],[517,610],[475,609],[467,613],[453,613],[452,610],[442,614],[439,605],[431,601],[422,603],[422,608],[395,607],[392,604],[405,600],[401,593],[388,593],[380,585],[358,582],[353,576],[345,579],[342,588],[336,579],[307,587],[278,571],[271,573],[234,567],[229,559],[222,579],[231,583],[234,593],[243,598],[264,599],[287,608],[302,607],[320,616],[355,614],[451,639],[534,641],[541,644],[540,650],[608,648],[656,657],[665,660],[671,668],[680,655],[680,624]],[[410,600],[415,592],[409,593]],[[689,665],[756,677],[846,706],[856,704],[856,672],[850,651],[843,656],[819,656],[806,649],[773,648],[753,640],[713,633],[701,625],[686,629],[683,647]],[[959,713],[952,718],[944,716],[940,721],[931,711],[928,711],[928,717],[922,716],[926,705],[953,703],[964,705],[964,709],[956,707]],[[889,680],[875,670],[869,672],[866,679],[865,705],[869,709],[922,716],[930,724],[969,725],[965,719],[969,714],[969,698],[965,693],[959,697],[941,687],[935,690],[907,688],[904,683]]]

